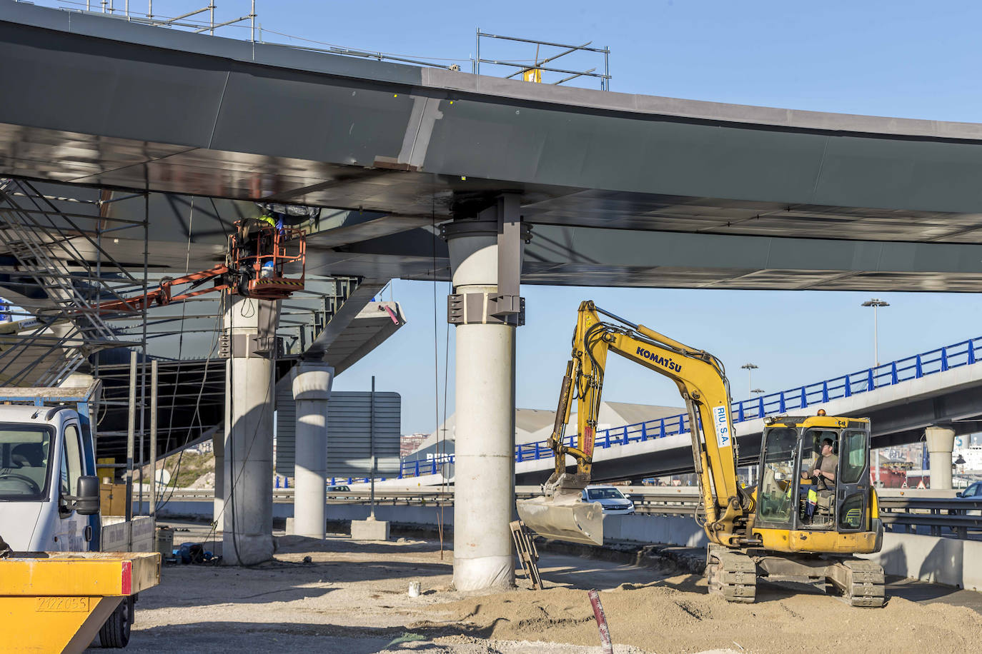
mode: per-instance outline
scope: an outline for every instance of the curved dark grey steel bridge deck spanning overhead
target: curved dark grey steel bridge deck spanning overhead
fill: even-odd
[[[312,239],[315,274],[448,278],[421,226],[510,190],[535,226],[525,283],[982,278],[979,125],[528,84],[18,3],[0,55],[0,174],[355,210]]]

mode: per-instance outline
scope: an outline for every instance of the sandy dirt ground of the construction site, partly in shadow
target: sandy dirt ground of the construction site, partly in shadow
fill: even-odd
[[[767,583],[755,604],[740,605],[708,596],[695,575],[547,554],[546,590],[518,579],[511,592],[466,597],[450,589],[452,561],[432,541],[284,536],[276,560],[255,568],[167,566],[161,585],[140,594],[127,651],[593,653],[591,587],[619,654],[982,651],[982,616],[946,603],[976,593],[927,584],[891,586],[883,609]],[[408,596],[410,580],[421,596]]]

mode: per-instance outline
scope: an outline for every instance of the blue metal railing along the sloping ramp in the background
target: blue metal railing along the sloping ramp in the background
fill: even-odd
[[[851,397],[876,388],[891,386],[901,381],[919,379],[953,368],[968,366],[976,363],[978,361],[976,357],[980,355],[982,355],[982,336],[963,340],[936,350],[921,352],[875,368],[849,373],[842,377],[833,377],[776,393],[760,395],[748,400],[739,400],[731,404],[731,409],[736,423],[756,420],[764,416],[786,414],[829,400]],[[680,414],[670,418],[658,418],[644,423],[597,431],[594,447],[606,449],[618,445],[627,445],[627,443],[664,438],[687,431],[688,414]],[[568,445],[574,446],[576,444],[575,434],[566,436],[566,440]],[[551,459],[552,456],[552,450],[549,449],[544,440],[534,443],[521,443],[515,446],[515,461],[517,463],[544,458]],[[400,477],[436,475],[443,464],[453,463],[453,454],[445,455],[439,460],[404,461]]]

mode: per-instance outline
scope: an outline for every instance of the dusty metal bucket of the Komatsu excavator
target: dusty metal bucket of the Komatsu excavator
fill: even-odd
[[[579,491],[518,500],[518,517],[527,528],[554,540],[604,544],[604,516],[599,502],[584,502]]]

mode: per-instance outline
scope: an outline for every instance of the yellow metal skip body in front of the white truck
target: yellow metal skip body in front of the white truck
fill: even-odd
[[[82,652],[126,597],[160,582],[160,555],[47,552],[0,560],[5,652]]]

